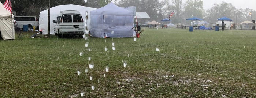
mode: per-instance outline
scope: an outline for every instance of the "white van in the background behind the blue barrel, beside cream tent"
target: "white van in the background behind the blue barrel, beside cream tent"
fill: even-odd
[[[15,16],[14,20],[16,20],[21,29],[23,29],[23,25],[28,25],[29,30],[34,26],[39,28],[39,21],[36,16]]]

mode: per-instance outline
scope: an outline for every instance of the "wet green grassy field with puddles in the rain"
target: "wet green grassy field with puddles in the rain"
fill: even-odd
[[[256,97],[256,31],[146,28],[136,41],[23,34],[0,40],[0,97]]]

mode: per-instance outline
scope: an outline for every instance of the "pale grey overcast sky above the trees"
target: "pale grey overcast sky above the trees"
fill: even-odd
[[[115,0],[112,0],[115,1]],[[120,1],[120,0],[117,0]],[[170,0],[171,1],[171,0]],[[183,3],[186,3],[187,0],[182,0]],[[214,6],[214,3],[221,4],[223,1],[226,3],[231,3],[235,8],[249,8],[256,10],[256,0],[202,0],[204,2],[204,10],[207,10]]]

